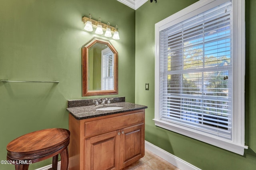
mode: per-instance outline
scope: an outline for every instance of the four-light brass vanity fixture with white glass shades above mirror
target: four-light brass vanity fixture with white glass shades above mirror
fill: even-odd
[[[116,27],[110,26],[110,22],[108,22],[108,24],[104,24],[101,22],[101,19],[99,19],[98,21],[91,19],[92,16],[89,14],[89,17],[82,17],[82,22],[84,22],[85,27],[84,30],[88,31],[88,32],[92,32],[93,29],[92,27],[96,28],[95,33],[96,34],[103,34],[103,31],[106,31],[104,36],[105,37],[112,37],[113,35],[113,39],[114,40],[119,40],[119,34],[118,34],[118,26],[116,25]]]

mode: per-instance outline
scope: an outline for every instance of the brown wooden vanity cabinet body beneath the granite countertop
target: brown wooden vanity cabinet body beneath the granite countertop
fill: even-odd
[[[144,156],[145,110],[76,120],[69,114],[69,169],[120,170]]]

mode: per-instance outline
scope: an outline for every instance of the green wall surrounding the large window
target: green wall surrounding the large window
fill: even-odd
[[[244,156],[154,125],[154,24],[197,0],[158,0],[136,10],[135,103],[147,105],[146,140],[203,170],[256,169],[256,1],[246,0],[246,145]],[[150,84],[149,91],[145,83]]]

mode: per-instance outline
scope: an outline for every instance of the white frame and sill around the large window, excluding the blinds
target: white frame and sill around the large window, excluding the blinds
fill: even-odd
[[[184,8],[183,10],[165,18],[155,24],[155,117],[154,122],[158,127],[183,134],[185,136],[212,144],[214,146],[229,150],[231,152],[244,155],[244,149],[248,149],[244,143],[244,77],[245,77],[245,1],[232,0],[233,9],[233,122],[232,140],[220,138],[194,129],[176,125],[160,120],[160,31],[180,23],[192,16],[210,10],[228,0],[199,0],[198,2]],[[239,57],[237,57],[239,56]],[[234,69],[235,68],[235,69]]]

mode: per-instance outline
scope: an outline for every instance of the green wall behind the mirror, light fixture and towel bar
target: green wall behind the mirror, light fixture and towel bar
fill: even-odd
[[[68,128],[68,99],[82,97],[82,16],[118,24],[118,95],[135,100],[135,10],[117,0],[0,0],[0,79],[58,80],[60,83],[0,82],[0,160],[6,145],[22,134],[44,128]],[[94,29],[95,30],[95,29]],[[102,37],[102,36],[97,36]],[[30,165],[36,169],[51,160]],[[0,170],[14,165],[0,164]]]

